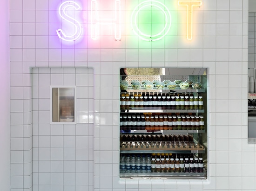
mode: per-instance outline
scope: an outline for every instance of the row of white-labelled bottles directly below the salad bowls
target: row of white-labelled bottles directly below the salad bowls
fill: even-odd
[[[162,109],[203,109],[202,96],[184,94],[170,96],[169,93],[121,93],[120,109],[130,108],[162,108]],[[176,94],[177,95],[177,94]]]

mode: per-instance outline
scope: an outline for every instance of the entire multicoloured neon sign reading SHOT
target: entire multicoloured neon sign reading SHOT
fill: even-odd
[[[202,0],[178,0],[178,6],[186,6],[187,7],[187,39],[191,40],[193,37],[193,7],[201,6]],[[67,23],[73,26],[72,32],[63,31],[62,29],[58,29],[57,35],[64,41],[75,41],[81,37],[82,34],[82,26],[81,23],[69,16],[67,13],[70,10],[80,10],[81,6],[74,1],[65,1],[59,7],[59,15],[62,19],[64,19]],[[140,22],[140,19],[143,18],[141,16],[142,13],[146,13],[147,11],[151,13],[154,10],[157,11],[157,15],[162,15],[157,24],[159,27],[152,27],[153,23],[151,21],[151,32],[145,32],[141,28],[143,22]],[[115,0],[115,10],[113,18],[99,18],[99,10],[97,0],[91,0],[91,38],[96,40],[99,33],[99,26],[104,25],[113,25],[113,30],[115,34],[115,40],[121,40],[121,0]],[[159,13],[160,11],[160,13]],[[152,19],[152,16],[150,17]],[[167,6],[157,0],[145,0],[135,6],[132,11],[131,18],[131,28],[135,35],[145,41],[157,41],[166,36],[171,28],[171,13]],[[148,22],[148,21],[147,21]],[[146,23],[147,23],[146,22]],[[149,22],[150,24],[150,22]],[[157,30],[159,31],[156,31]],[[71,33],[70,35],[67,35]]]

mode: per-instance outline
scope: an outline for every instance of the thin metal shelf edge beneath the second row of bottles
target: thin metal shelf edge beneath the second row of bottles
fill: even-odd
[[[205,130],[130,130],[131,132],[121,132],[128,130],[120,130],[120,134],[189,134],[189,133],[205,133]]]

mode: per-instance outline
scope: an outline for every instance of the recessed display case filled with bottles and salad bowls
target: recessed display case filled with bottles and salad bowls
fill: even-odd
[[[120,178],[207,178],[207,70],[125,71]]]

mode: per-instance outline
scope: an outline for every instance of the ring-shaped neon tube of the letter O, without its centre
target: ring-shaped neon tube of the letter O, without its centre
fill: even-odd
[[[143,5],[142,4],[146,4],[146,5]],[[157,4],[160,4],[160,5],[157,5]],[[139,8],[139,6],[142,6]],[[155,6],[157,7],[158,9],[160,9],[164,15],[165,15],[165,19],[166,19],[166,22],[165,22],[165,26],[164,28],[162,29],[161,32],[159,32],[158,34],[155,34],[155,35],[147,35],[147,34],[144,34],[143,32],[140,31],[137,23],[136,23],[136,19],[137,19],[137,16],[138,16],[138,13],[141,11],[142,8],[146,7],[146,6]],[[167,13],[164,11],[164,9],[162,7],[164,7],[164,9],[167,11]],[[134,24],[135,23],[135,24]],[[135,25],[135,27],[134,27]],[[137,5],[135,7],[135,9],[133,10],[132,14],[131,14],[131,26],[132,26],[132,29],[133,31],[135,32],[135,34],[141,38],[142,40],[146,40],[146,41],[156,41],[156,40],[160,40],[162,39],[170,30],[170,27],[171,27],[171,14],[168,10],[168,8],[162,4],[161,2],[159,1],[155,1],[155,0],[146,0],[146,1],[143,1],[141,2],[139,5]],[[164,32],[164,30],[168,27],[168,29],[166,30],[166,32],[164,34],[161,34]],[[162,35],[162,36],[161,36]],[[158,38],[154,38],[154,37],[158,37]]]

